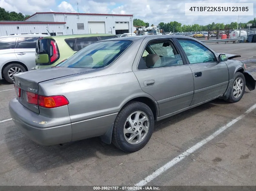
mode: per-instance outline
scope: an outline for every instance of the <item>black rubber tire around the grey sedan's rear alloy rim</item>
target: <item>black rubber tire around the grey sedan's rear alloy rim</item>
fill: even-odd
[[[126,119],[136,111],[142,111],[144,112],[148,117],[149,127],[148,127],[148,133],[145,135],[145,138],[139,142],[138,144],[130,144],[126,141],[125,135],[124,135],[124,126],[126,123]],[[153,130],[154,130],[154,115],[151,111],[151,109],[145,104],[138,101],[131,101],[128,104],[126,104],[121,111],[118,113],[113,133],[112,133],[112,143],[119,149],[125,151],[125,152],[135,152],[143,148],[149,141],[149,139],[152,136]]]

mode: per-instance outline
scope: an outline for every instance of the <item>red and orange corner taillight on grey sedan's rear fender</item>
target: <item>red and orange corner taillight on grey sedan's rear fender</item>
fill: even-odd
[[[40,107],[55,108],[68,105],[68,100],[65,96],[38,96],[38,105]]]

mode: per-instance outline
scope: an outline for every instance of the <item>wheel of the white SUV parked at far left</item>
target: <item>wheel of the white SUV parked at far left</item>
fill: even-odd
[[[26,72],[26,69],[18,63],[12,63],[5,67],[3,71],[3,77],[6,81],[13,84],[13,75],[18,74],[20,72]]]

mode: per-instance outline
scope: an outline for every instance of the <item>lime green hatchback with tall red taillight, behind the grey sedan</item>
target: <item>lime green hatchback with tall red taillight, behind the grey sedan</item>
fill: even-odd
[[[39,38],[35,48],[35,69],[52,67],[78,50],[99,40],[117,38],[114,34],[74,34]]]

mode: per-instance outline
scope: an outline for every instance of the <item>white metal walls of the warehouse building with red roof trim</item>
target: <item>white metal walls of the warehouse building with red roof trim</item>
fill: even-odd
[[[91,30],[88,27],[88,22],[104,22],[105,31],[100,30],[102,33],[115,33],[116,22],[127,22],[129,33],[133,32],[133,20],[131,16],[119,15],[90,15],[90,14],[36,14],[26,21],[49,21],[49,22],[66,22],[66,24],[0,24],[0,36],[7,34],[21,34],[21,33],[50,33],[58,34],[88,34]],[[78,30],[77,23],[84,23],[84,29]],[[89,23],[90,24],[90,23]],[[19,26],[19,29],[17,29]],[[97,26],[97,25],[96,25]],[[119,25],[120,26],[120,25]],[[96,29],[93,30],[97,31]],[[93,32],[92,32],[93,33]],[[57,35],[58,35],[57,34]]]

